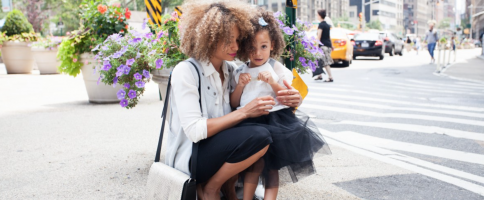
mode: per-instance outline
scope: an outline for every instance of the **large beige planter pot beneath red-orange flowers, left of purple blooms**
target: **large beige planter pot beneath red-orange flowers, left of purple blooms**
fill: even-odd
[[[89,96],[89,102],[91,103],[119,103],[119,99],[116,96],[116,92],[121,89],[122,86],[116,85],[114,88],[111,85],[106,85],[99,81],[99,72],[94,71],[94,64],[96,60],[92,54],[84,53],[81,54],[81,59],[78,62],[89,64],[84,64],[81,68],[82,77],[84,78],[84,84],[86,85],[87,95]]]

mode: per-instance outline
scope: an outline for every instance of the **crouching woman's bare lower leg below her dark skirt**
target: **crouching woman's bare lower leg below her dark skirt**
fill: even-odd
[[[269,145],[255,153],[251,157],[238,163],[225,163],[222,167],[213,175],[203,187],[202,194],[200,195],[203,200],[220,200],[220,188],[228,179],[232,178],[242,170],[254,164],[259,158],[261,158],[269,148]]]

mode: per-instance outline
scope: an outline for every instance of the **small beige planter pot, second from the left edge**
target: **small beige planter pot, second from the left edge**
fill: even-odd
[[[57,66],[60,65],[57,60],[57,48],[52,50],[45,48],[32,47],[32,56],[37,64],[40,74],[58,74]]]

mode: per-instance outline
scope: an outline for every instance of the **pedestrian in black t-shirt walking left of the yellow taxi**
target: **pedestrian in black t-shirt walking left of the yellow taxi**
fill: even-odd
[[[323,68],[326,69],[328,73],[328,79],[324,82],[333,82],[333,75],[331,74],[331,65],[334,63],[331,58],[331,51],[333,50],[333,45],[331,42],[330,29],[331,26],[325,21],[326,10],[318,10],[318,20],[320,21],[318,26],[318,39],[323,45],[319,45],[319,48],[323,50],[324,55],[321,59],[318,59],[318,68],[316,72],[313,73],[314,80],[322,80]]]

